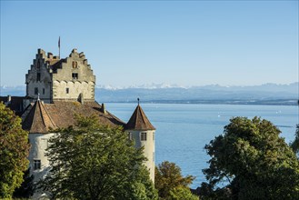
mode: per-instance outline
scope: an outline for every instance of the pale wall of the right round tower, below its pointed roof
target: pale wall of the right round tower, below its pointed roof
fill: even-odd
[[[128,131],[132,134],[132,138],[135,141],[135,147],[140,148],[141,146],[145,147],[144,155],[147,158],[145,161],[145,166],[149,169],[150,178],[154,183],[154,131]],[[141,134],[146,133],[146,141],[141,141]]]

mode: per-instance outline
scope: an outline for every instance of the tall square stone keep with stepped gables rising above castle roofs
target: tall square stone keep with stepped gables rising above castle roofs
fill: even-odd
[[[95,101],[95,75],[85,54],[72,53],[60,59],[38,49],[31,69],[25,76],[26,96],[45,103],[53,101]]]

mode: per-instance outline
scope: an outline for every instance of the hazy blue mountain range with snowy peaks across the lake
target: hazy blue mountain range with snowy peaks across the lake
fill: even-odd
[[[25,86],[3,85],[0,87],[0,95],[25,95]],[[189,87],[165,84],[129,87],[95,86],[95,99],[101,103],[133,103],[138,97],[144,103],[297,105],[299,83]]]

